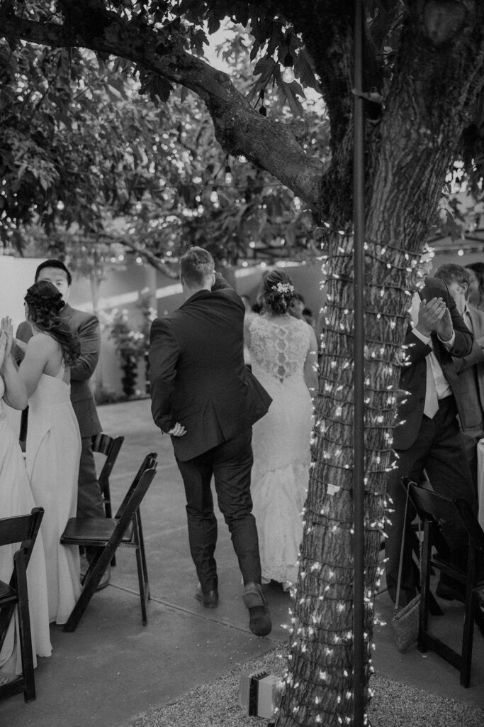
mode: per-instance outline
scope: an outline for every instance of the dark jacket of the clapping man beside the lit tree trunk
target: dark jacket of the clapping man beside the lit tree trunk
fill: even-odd
[[[461,421],[465,422],[465,413],[462,406],[462,396],[459,388],[456,369],[452,356],[462,358],[469,356],[472,350],[474,337],[462,320],[454,298],[448,291],[446,283],[438,278],[425,278],[424,288],[420,291],[420,297],[430,301],[432,298],[441,297],[451,312],[452,324],[456,334],[454,345],[449,352],[438,339],[437,334],[432,333],[432,346],[435,356],[438,358],[443,374],[446,377],[451,391],[456,400],[457,411]],[[407,364],[402,366],[400,377],[400,389],[408,392],[403,394],[401,404],[398,406],[397,419],[393,429],[394,449],[409,449],[417,439],[419,428],[422,423],[425,403],[425,389],[427,384],[427,363],[425,357],[432,348],[422,342],[414,333],[411,326],[405,338]]]

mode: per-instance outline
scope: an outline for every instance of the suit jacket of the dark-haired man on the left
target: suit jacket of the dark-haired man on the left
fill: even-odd
[[[68,303],[62,308],[60,317],[65,318],[70,327],[78,333],[81,342],[81,356],[70,369],[70,401],[78,419],[81,437],[92,437],[102,432],[94,395],[89,386],[89,379],[94,374],[101,350],[99,321],[92,313],[84,313],[83,310],[72,308]],[[31,336],[30,323],[23,321],[17,329],[16,337],[26,343]],[[16,357],[22,358],[22,354],[17,356],[17,353]]]

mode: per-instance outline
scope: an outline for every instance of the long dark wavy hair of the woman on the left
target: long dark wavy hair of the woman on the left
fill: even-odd
[[[60,344],[67,366],[75,364],[81,353],[81,344],[78,334],[60,318],[64,301],[56,286],[49,281],[39,280],[30,286],[24,300],[28,305],[30,323]]]

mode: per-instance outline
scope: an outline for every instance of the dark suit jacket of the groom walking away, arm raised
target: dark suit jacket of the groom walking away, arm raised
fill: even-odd
[[[152,324],[149,381],[152,415],[185,462],[228,441],[261,419],[271,397],[244,364],[244,304],[216,275],[180,308]]]

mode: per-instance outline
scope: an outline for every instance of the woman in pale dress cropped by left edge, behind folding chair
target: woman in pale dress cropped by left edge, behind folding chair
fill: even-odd
[[[25,409],[27,392],[14,361],[12,350],[12,323],[3,318],[0,325],[0,517],[12,518],[28,515],[35,503],[25,472],[22,451],[12,428],[7,422],[4,402],[13,409]],[[0,580],[8,583],[13,571],[13,557],[17,545],[0,547]],[[47,606],[46,566],[42,538],[38,534],[30,555],[27,569],[28,596],[30,602],[30,630],[32,633],[33,662],[38,656],[50,656],[52,647],[49,635],[49,611]],[[9,624],[4,644],[0,650],[0,684],[7,683],[22,673],[17,616]]]

